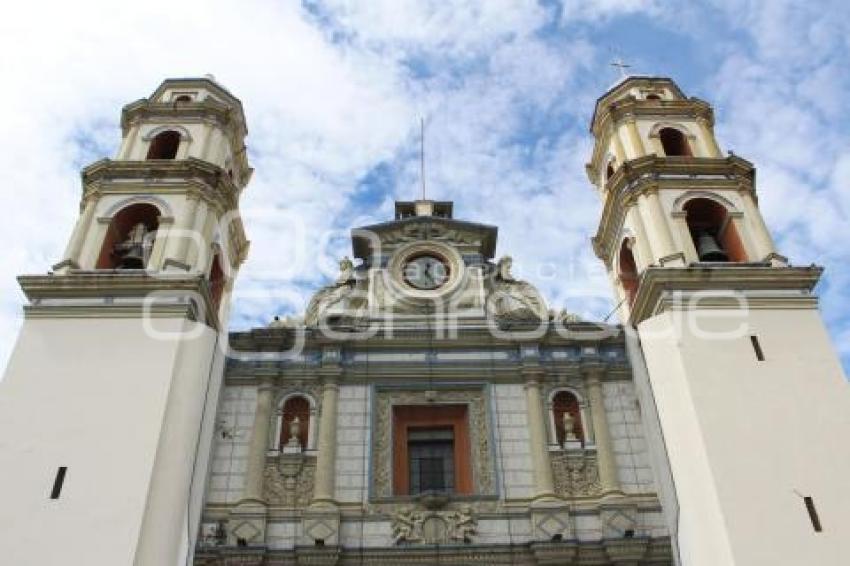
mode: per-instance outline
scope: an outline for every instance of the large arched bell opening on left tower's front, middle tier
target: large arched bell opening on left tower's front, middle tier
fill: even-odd
[[[150,259],[159,209],[139,203],[121,209],[109,222],[96,269],[144,269]]]

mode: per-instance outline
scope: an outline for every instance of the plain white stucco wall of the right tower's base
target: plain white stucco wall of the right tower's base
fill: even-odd
[[[676,480],[683,564],[846,564],[850,388],[819,313],[753,309],[732,319],[758,336],[765,361],[749,333],[707,339],[688,323],[693,313],[680,314],[644,321],[640,335]],[[735,316],[712,314],[699,328],[728,328]]]

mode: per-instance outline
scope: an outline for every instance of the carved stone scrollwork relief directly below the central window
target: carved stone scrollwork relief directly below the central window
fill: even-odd
[[[472,542],[478,521],[468,505],[451,511],[419,511],[403,507],[393,515],[393,542],[444,544]]]

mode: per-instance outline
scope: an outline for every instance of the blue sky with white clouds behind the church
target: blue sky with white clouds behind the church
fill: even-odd
[[[58,259],[79,169],[113,156],[123,104],[212,73],[246,108],[256,174],[234,328],[303,308],[353,226],[419,192],[499,226],[498,254],[553,307],[600,318],[589,238],[593,103],[622,57],[711,102],[721,146],[759,168],[780,251],[827,275],[822,308],[850,367],[850,10],[844,0],[183,0],[18,2],[0,21],[0,363],[14,280]]]

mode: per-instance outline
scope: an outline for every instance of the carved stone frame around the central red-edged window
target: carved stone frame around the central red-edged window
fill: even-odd
[[[375,427],[372,448],[372,493],[378,498],[392,497],[392,407],[393,405],[427,405],[429,403],[466,404],[469,418],[469,440],[472,446],[472,474],[475,493],[495,493],[493,447],[490,442],[487,409],[483,389],[437,389],[436,396],[427,391],[379,390],[375,404]],[[432,400],[429,401],[429,396]]]

